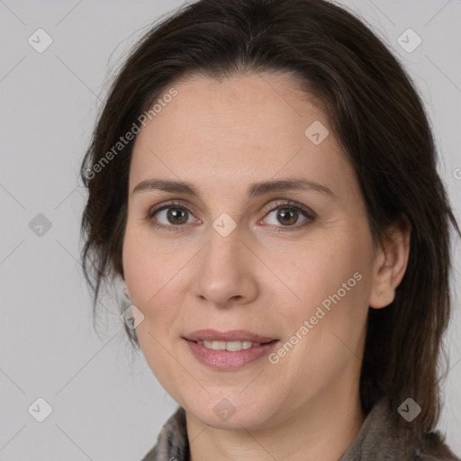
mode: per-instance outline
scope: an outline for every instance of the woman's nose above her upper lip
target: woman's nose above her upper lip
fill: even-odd
[[[229,306],[257,298],[258,258],[241,240],[238,227],[226,237],[212,228],[210,240],[194,259],[192,287],[194,296],[203,302]]]

